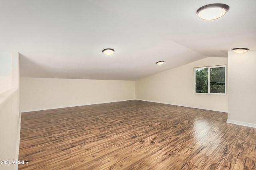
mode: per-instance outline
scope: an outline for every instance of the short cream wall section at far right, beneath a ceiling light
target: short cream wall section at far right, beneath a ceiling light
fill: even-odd
[[[228,121],[256,127],[256,51],[228,51]]]

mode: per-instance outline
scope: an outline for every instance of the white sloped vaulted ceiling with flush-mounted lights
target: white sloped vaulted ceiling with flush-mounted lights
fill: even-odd
[[[212,3],[230,10],[200,19],[196,10]],[[256,0],[1,0],[0,51],[20,53],[23,77],[138,80],[256,50],[255,9]]]

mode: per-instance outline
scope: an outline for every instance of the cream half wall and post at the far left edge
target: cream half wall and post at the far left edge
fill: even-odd
[[[20,143],[20,104],[19,104],[19,54],[11,53],[10,90],[0,94],[0,160],[18,160]],[[0,67],[3,64],[0,63]],[[12,163],[12,162],[11,162]],[[0,164],[2,170],[18,169],[18,165]]]

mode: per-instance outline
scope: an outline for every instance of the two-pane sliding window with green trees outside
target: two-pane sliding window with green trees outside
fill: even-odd
[[[226,66],[194,68],[195,93],[226,94]]]

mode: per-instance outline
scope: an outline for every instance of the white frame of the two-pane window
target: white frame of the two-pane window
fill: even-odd
[[[211,68],[225,67],[225,93],[211,93]],[[196,92],[196,69],[198,68],[208,68],[208,93],[197,93]],[[217,95],[227,95],[227,65],[218,65],[218,66],[204,66],[204,67],[194,67],[194,94],[217,94]]]

